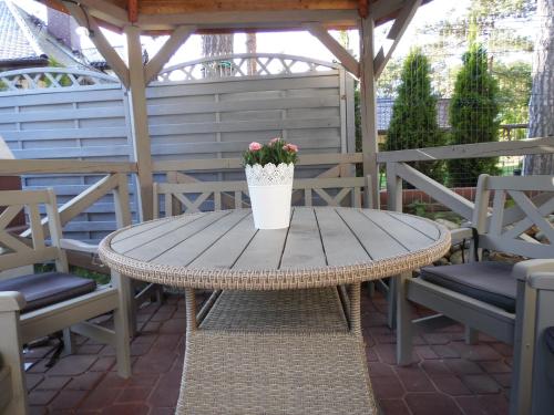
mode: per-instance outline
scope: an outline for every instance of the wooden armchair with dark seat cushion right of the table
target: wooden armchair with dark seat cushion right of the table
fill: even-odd
[[[529,191],[541,191],[530,199]],[[494,193],[492,214],[489,200]],[[506,207],[510,197],[512,207]],[[535,205],[536,204],[536,205]],[[544,343],[544,330],[554,325],[554,177],[491,177],[478,183],[472,224],[478,238],[470,247],[470,262],[425,267],[420,277],[401,276],[397,286],[398,361],[411,360],[411,336],[416,329],[409,301],[432,309],[465,324],[468,340],[476,331],[514,345],[510,413],[531,414],[534,354]],[[524,232],[536,226],[547,242]],[[481,261],[484,249],[530,258],[515,266]],[[554,391],[551,391],[554,393]],[[536,395],[536,394],[535,394]],[[533,413],[545,408],[533,404]],[[542,411],[542,412],[541,412]]]

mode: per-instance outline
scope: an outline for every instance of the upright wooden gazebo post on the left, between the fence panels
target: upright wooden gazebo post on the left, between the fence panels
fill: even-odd
[[[141,29],[134,25],[125,27],[129,52],[129,74],[131,131],[133,135],[135,160],[138,176],[138,201],[141,220],[153,217],[152,200],[152,154],[148,134],[148,118],[146,113],[146,87],[142,60]]]

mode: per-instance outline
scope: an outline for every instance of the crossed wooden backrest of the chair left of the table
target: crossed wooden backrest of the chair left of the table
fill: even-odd
[[[49,245],[40,216],[41,205],[48,216]],[[62,231],[52,189],[0,191],[0,207],[3,208],[0,214],[0,271],[55,260],[58,271],[68,272],[65,252],[60,248]],[[22,209],[27,210],[32,231],[29,243],[8,232],[10,222]]]

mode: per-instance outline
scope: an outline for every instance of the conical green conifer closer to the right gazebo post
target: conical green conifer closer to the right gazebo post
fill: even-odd
[[[437,97],[431,89],[430,72],[427,56],[420,50],[412,50],[402,65],[386,151],[444,144],[437,122]],[[414,167],[435,180],[444,181],[442,162],[417,162]]]

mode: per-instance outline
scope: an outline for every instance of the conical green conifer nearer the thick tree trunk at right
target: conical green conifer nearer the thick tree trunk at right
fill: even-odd
[[[450,102],[450,143],[472,144],[499,139],[499,84],[488,68],[486,50],[478,43],[463,55]],[[449,184],[474,186],[482,173],[500,173],[497,157],[448,160]]]

